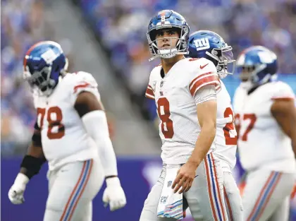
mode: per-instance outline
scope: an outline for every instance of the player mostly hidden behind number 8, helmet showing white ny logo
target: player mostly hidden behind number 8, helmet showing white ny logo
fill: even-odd
[[[219,78],[233,74],[235,60],[232,47],[223,38],[209,30],[199,30],[189,37],[189,54],[192,58],[206,58],[212,61],[218,71]],[[215,154],[220,160],[223,170],[224,196],[230,221],[243,221],[242,199],[240,191],[231,173],[235,167],[237,150],[237,133],[234,125],[233,107],[230,95],[222,80],[221,91],[217,94],[217,127]]]

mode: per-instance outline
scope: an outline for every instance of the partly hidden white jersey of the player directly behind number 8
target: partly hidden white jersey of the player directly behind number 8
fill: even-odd
[[[221,91],[217,94],[217,121],[216,121],[216,150],[215,155],[220,159],[224,171],[235,167],[237,150],[237,133],[235,131],[233,107],[230,95],[221,82]]]

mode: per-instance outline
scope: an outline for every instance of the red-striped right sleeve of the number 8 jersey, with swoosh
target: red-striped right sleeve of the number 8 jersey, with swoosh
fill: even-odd
[[[190,62],[190,61],[189,61]],[[221,90],[220,81],[217,74],[216,66],[208,59],[199,59],[193,66],[190,75],[189,90],[192,97],[195,97],[197,91],[206,85],[214,85],[216,92]]]

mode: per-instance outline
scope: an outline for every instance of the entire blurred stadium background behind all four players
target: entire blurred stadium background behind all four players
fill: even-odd
[[[128,204],[111,213],[101,203],[100,191],[93,220],[138,220],[161,169],[155,104],[144,98],[144,90],[150,70],[159,62],[148,62],[147,24],[164,8],[182,13],[191,32],[218,32],[233,46],[235,56],[252,44],[273,49],[278,54],[279,78],[296,92],[295,0],[2,0],[2,221],[42,220],[44,213],[47,166],[27,186],[23,205],[12,205],[7,197],[35,123],[21,73],[25,51],[39,40],[59,42],[70,60],[70,71],[94,75],[108,110]],[[223,82],[233,96],[238,78],[228,76]],[[233,173],[239,181],[243,173],[239,162]],[[290,220],[296,220],[296,199],[291,202]]]

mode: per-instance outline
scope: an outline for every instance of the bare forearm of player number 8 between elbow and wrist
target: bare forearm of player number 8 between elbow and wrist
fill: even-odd
[[[204,160],[204,157],[206,157],[206,153],[209,152],[215,136],[216,124],[214,122],[205,124],[199,133],[197,142],[195,143],[195,149],[192,151],[188,161],[199,165]]]

